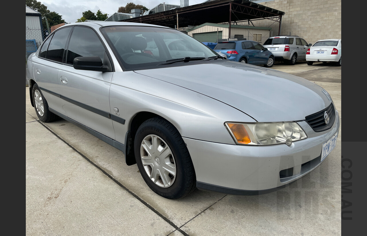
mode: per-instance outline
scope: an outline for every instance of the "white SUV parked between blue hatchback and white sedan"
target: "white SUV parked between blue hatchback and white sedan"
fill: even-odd
[[[298,60],[306,59],[306,52],[312,46],[297,35],[277,35],[268,38],[264,47],[268,48],[275,56],[276,61],[286,60],[294,65]]]

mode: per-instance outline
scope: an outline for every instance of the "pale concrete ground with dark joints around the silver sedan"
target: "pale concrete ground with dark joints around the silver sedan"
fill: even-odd
[[[341,67],[275,64],[320,85],[341,115]],[[257,196],[156,195],[121,151],[59,119],[42,123],[26,87],[26,235],[341,235],[341,130],[313,172]]]

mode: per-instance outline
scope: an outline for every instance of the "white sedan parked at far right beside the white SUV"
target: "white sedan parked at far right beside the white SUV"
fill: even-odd
[[[327,39],[319,40],[312,47],[307,50],[306,61],[308,65],[313,62],[328,61],[336,62],[337,66],[342,65],[342,40],[341,39]]]

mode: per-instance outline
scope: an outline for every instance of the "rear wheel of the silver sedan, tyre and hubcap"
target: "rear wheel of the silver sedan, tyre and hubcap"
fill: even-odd
[[[48,109],[48,103],[37,84],[33,85],[32,98],[34,110],[36,110],[36,114],[41,121],[47,123],[54,121],[58,117]]]

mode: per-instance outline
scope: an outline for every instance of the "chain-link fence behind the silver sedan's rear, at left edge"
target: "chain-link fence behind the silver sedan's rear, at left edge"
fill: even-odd
[[[33,52],[36,52],[49,32],[45,29],[25,29],[25,60]]]

